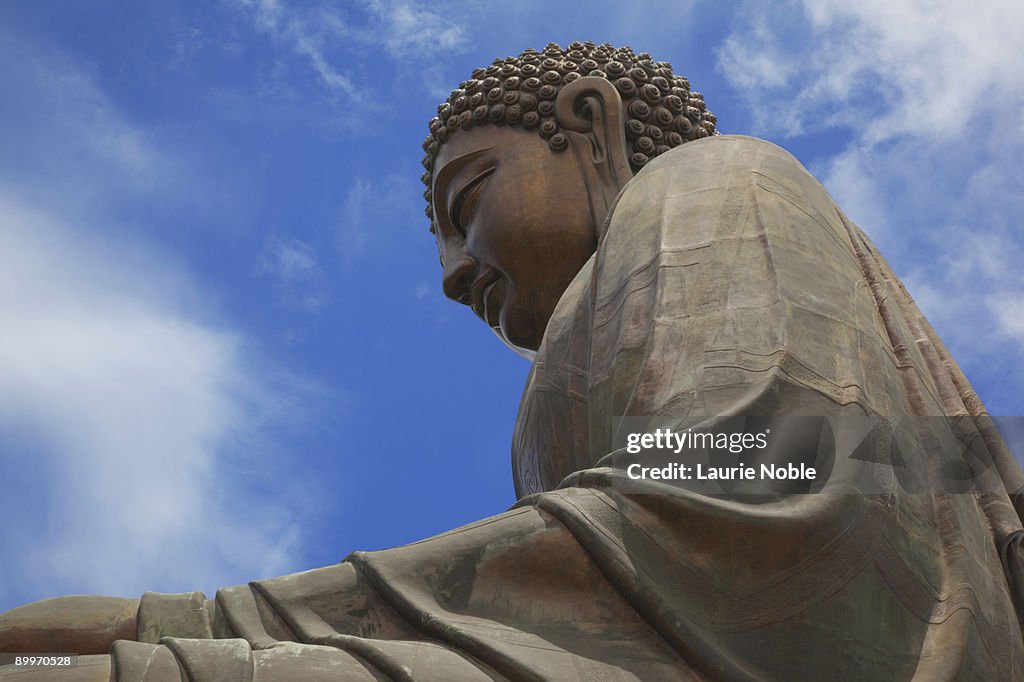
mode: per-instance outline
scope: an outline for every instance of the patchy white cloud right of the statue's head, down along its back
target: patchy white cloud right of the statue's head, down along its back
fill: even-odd
[[[718,67],[776,139],[836,129],[845,150],[812,160],[839,204],[880,243],[926,315],[1011,411],[1024,279],[1024,5],[746,3]],[[978,330],[986,330],[979,338]],[[1019,399],[1016,400],[1019,410]]]

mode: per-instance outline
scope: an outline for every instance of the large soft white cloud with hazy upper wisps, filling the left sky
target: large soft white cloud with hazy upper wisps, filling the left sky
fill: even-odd
[[[171,201],[184,164],[88,71],[0,44],[16,94],[0,122],[22,133],[0,164],[0,515],[22,548],[0,594],[209,591],[301,567],[293,501],[315,492],[273,434],[319,389],[112,218],[125,196]]]

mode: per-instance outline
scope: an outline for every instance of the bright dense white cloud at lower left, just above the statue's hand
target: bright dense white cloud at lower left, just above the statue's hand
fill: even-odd
[[[244,494],[280,468],[260,430],[296,386],[189,314],[186,288],[154,256],[0,197],[0,434],[32,443],[3,462],[53,496],[5,492],[22,547],[7,594],[210,590],[294,567],[302,512]]]

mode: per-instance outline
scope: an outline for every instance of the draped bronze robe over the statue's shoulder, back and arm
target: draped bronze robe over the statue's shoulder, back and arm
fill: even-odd
[[[736,415],[952,417],[903,464],[927,483],[970,441],[978,477],[908,493],[837,446],[814,494],[624,485],[616,418]],[[871,243],[773,144],[689,142],[624,188],[545,333],[513,470],[518,503],[451,532],[215,599],[147,593],[116,679],[1024,679],[1024,476]]]

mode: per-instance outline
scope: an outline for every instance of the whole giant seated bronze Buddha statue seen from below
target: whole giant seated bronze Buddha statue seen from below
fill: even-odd
[[[23,606],[0,649],[93,655],[0,678],[1024,679],[1024,474],[796,159],[593,43],[473,72],[429,127],[444,293],[532,361],[517,504],[214,599]],[[637,477],[636,420],[765,446]],[[820,476],[743,473],[798,454]]]

